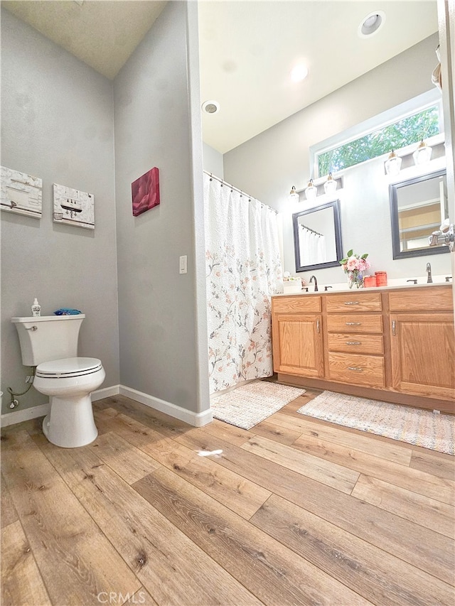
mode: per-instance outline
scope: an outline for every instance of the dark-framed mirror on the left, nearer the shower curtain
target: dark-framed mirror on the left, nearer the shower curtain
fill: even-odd
[[[296,271],[338,266],[343,258],[340,200],[295,212],[292,223]]]

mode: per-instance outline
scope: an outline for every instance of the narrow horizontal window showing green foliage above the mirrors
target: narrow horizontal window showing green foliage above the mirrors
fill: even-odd
[[[358,139],[316,153],[318,174],[322,176],[336,173],[343,168],[382,156],[392,149],[400,149],[421,139],[429,139],[439,132],[439,104],[434,104]]]

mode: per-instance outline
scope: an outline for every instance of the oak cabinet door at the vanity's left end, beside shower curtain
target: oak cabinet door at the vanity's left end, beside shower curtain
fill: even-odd
[[[323,340],[320,314],[274,315],[274,371],[301,377],[323,377]]]

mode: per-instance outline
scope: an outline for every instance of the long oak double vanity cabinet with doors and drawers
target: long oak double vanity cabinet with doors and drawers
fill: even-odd
[[[280,383],[455,412],[451,284],[272,297]]]

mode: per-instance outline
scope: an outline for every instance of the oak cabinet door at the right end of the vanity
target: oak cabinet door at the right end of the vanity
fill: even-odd
[[[455,399],[454,317],[449,313],[390,315],[392,387],[409,394]]]

